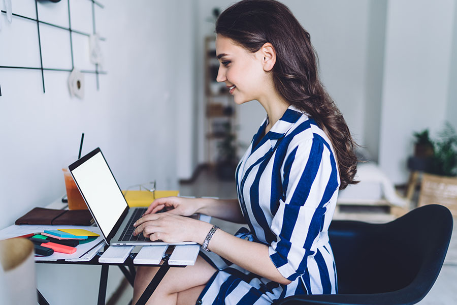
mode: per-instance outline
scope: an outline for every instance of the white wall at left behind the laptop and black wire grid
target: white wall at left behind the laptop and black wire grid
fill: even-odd
[[[70,1],[73,28],[92,31],[90,3]],[[191,117],[177,119],[182,114],[177,107],[192,111],[192,3],[103,3],[105,9],[95,8],[96,29],[106,38],[102,49],[108,74],[100,76],[100,90],[95,76],[86,74],[85,98],[71,98],[69,73],[45,72],[43,94],[40,72],[0,69],[0,228],[65,193],[61,168],[77,156],[82,132],[83,154],[100,146],[121,188],[153,178],[160,189],[177,188],[177,151],[186,154],[191,148],[187,142],[178,145],[178,131],[191,130]],[[66,5],[39,3],[40,19],[67,25]],[[13,12],[35,17],[35,3],[13,1]],[[8,24],[5,19],[2,14],[0,65],[39,67],[36,23],[13,17]],[[40,29],[44,64],[71,68],[68,32]],[[75,66],[93,69],[87,45],[85,36],[73,35]],[[112,270],[110,280],[119,281],[119,272],[113,276]],[[95,302],[99,268],[39,265],[37,272],[39,288],[51,304]],[[81,285],[84,293],[66,285]]]

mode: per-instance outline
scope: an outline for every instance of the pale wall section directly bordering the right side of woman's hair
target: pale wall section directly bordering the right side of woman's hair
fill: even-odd
[[[369,2],[284,1],[311,35],[320,77],[359,144],[364,111]]]

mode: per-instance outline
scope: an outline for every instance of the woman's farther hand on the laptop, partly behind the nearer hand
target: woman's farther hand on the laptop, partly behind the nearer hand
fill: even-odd
[[[162,209],[171,214],[191,216],[200,208],[198,199],[182,197],[164,197],[154,200],[144,215],[155,214]]]

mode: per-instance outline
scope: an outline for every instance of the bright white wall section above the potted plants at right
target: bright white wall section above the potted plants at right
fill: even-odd
[[[413,132],[433,133],[445,119],[454,6],[388,2],[379,163],[394,183],[407,181]]]

